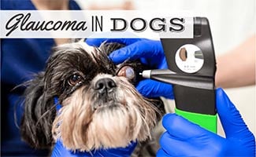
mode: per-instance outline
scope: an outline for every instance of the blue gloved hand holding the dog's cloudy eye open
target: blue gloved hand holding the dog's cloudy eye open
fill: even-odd
[[[115,64],[120,64],[127,59],[139,59],[143,64],[148,65],[152,69],[168,68],[160,41],[144,38],[88,38],[86,40],[87,44],[91,46],[99,46],[105,41],[119,42],[126,45],[109,55],[109,58]],[[167,83],[145,79],[139,82],[136,88],[144,97],[163,96],[173,99],[173,86]]]

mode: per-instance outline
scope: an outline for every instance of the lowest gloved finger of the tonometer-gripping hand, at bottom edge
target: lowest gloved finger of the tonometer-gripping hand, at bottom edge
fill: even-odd
[[[161,145],[161,149],[173,156],[186,156],[189,155],[187,152],[195,152],[193,144],[183,139],[173,137],[169,132],[165,132],[161,135],[159,144]]]

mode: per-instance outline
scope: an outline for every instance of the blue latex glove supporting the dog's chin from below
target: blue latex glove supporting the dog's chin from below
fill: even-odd
[[[59,111],[61,109],[61,104],[58,103],[58,98],[54,97],[54,104],[56,104],[56,109]],[[136,142],[131,142],[126,148],[109,148],[109,149],[100,149],[100,150],[92,150],[91,152],[72,152],[69,151],[60,140],[56,142],[54,145],[54,149],[51,152],[52,157],[80,157],[80,156],[113,156],[113,157],[122,157],[122,156],[131,156],[132,152],[136,147]]]

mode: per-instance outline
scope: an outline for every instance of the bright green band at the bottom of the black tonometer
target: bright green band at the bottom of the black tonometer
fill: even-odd
[[[177,115],[181,115],[185,119],[198,124],[199,126],[210,130],[213,133],[217,133],[217,114],[216,115],[204,115],[199,113],[193,113],[188,111],[181,111],[175,108]]]

